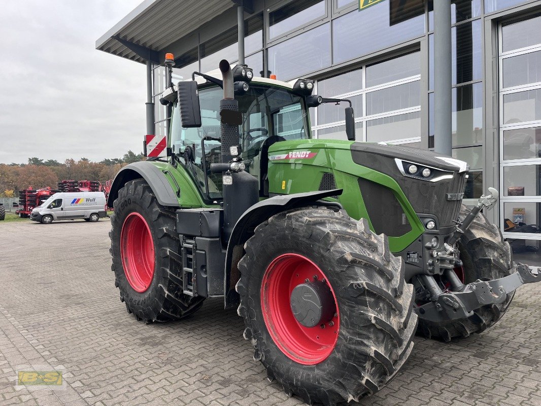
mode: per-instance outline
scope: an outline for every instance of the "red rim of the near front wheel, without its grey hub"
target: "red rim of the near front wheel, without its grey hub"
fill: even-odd
[[[308,328],[300,324],[291,310],[290,298],[295,286],[306,279],[326,281],[334,298],[336,312],[330,322]],[[263,319],[278,348],[293,361],[314,365],[324,361],[334,350],[340,329],[336,295],[325,274],[308,258],[283,254],[267,267],[261,284]]]

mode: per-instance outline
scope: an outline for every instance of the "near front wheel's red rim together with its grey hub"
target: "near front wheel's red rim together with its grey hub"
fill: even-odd
[[[333,352],[340,311],[328,278],[312,260],[282,254],[268,265],[261,284],[267,331],[293,361],[315,365]]]

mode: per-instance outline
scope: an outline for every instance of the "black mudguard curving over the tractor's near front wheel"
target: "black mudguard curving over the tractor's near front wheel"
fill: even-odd
[[[318,205],[341,207],[339,203],[320,200],[340,194],[342,194],[342,189],[274,196],[256,203],[242,214],[233,228],[227,245],[225,276],[223,278],[224,305],[226,309],[233,309],[239,305],[239,294],[235,290],[235,285],[239,281],[239,268],[237,265],[243,256],[244,243],[252,237],[254,228],[274,214],[296,207],[309,206],[315,202],[318,202]]]

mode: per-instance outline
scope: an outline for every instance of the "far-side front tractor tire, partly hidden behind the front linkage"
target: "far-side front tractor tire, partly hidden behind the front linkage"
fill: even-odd
[[[460,207],[459,221],[463,221],[470,210]],[[503,278],[516,271],[511,247],[504,241],[499,228],[491,224],[483,213],[479,213],[472,225],[458,240],[460,259],[463,261],[464,283],[478,279]],[[484,305],[474,315],[464,319],[445,322],[430,322],[419,318],[419,333],[427,338],[450,341],[465,338],[472,333],[481,333],[496,323],[505,313],[514,291],[507,295],[505,302]]]

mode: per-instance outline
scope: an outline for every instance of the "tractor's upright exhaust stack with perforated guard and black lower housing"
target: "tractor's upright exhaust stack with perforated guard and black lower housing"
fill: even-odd
[[[242,125],[242,114],[239,112],[239,102],[235,100],[233,72],[229,62],[220,61],[222,72],[223,99],[220,100],[220,139],[223,168],[232,161],[230,147],[240,144],[239,126]],[[237,158],[237,159],[240,159]],[[212,166],[211,166],[212,170]],[[223,181],[223,237],[229,240],[237,220],[248,208],[259,201],[259,182],[245,171],[225,172]],[[226,182],[226,178],[228,181]]]

